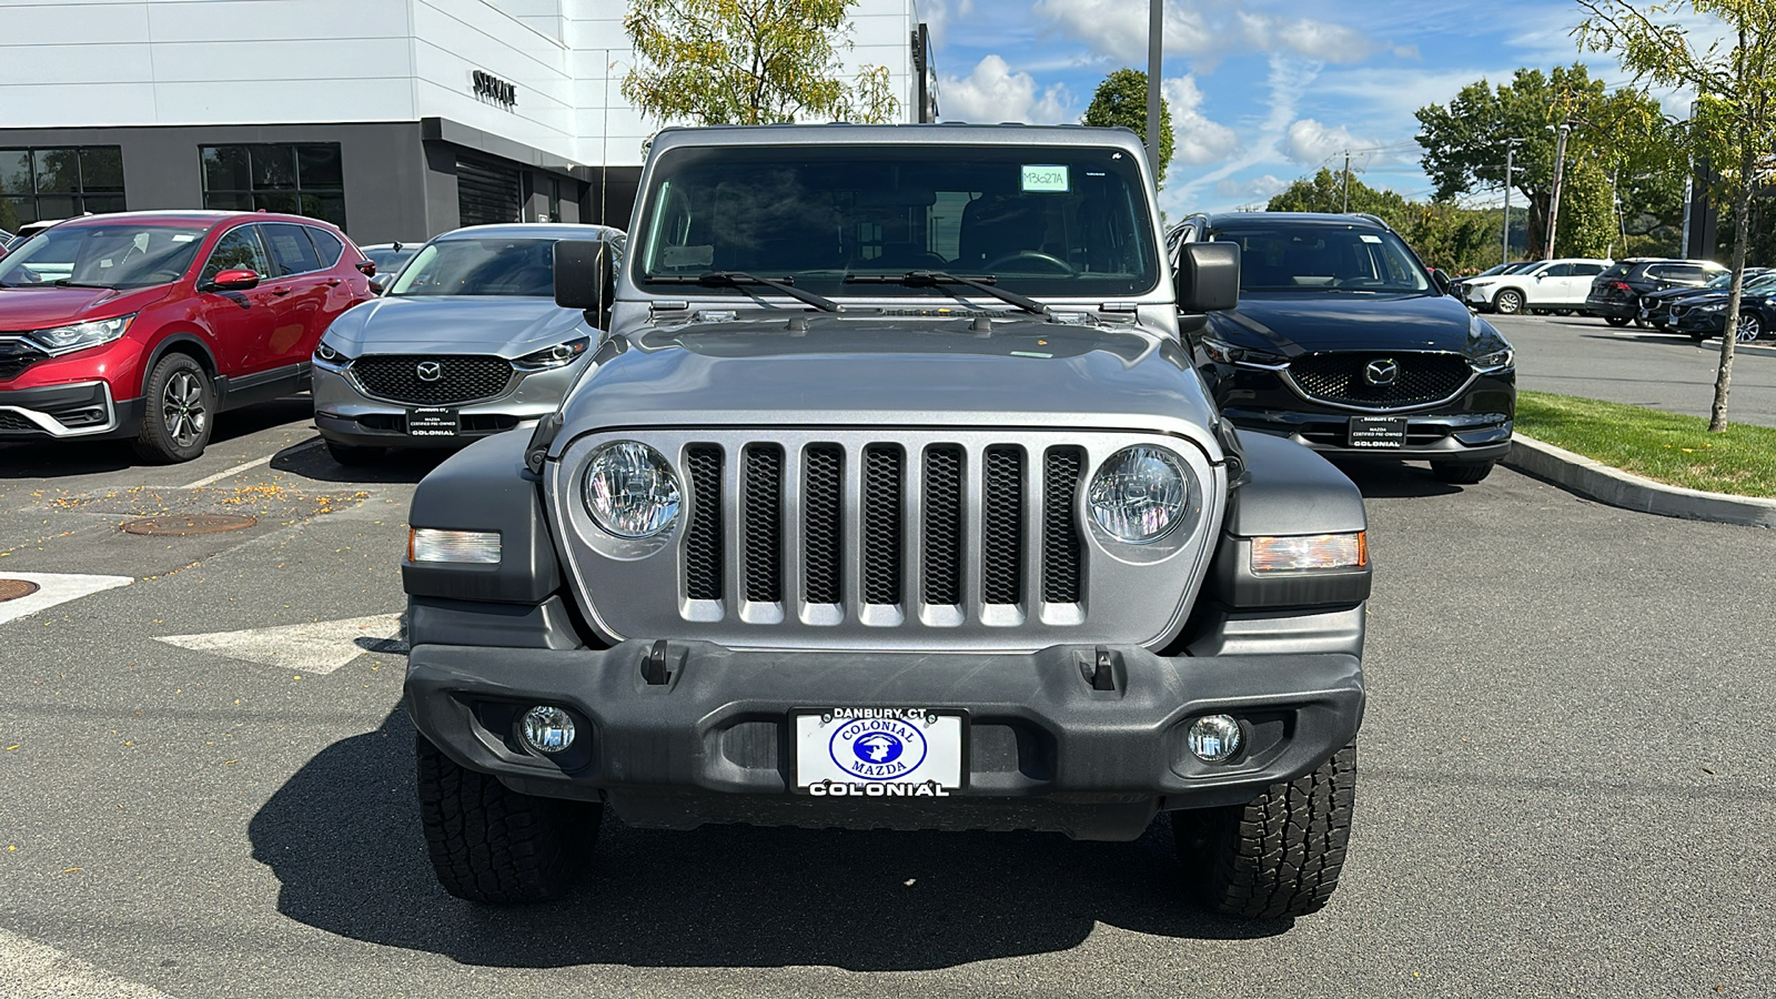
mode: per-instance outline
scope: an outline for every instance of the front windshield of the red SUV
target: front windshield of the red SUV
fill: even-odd
[[[0,286],[147,288],[178,281],[210,224],[55,226],[0,258]]]

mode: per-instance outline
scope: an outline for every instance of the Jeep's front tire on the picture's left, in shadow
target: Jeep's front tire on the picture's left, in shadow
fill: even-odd
[[[419,821],[444,891],[510,905],[568,892],[591,859],[604,805],[519,795],[497,777],[464,770],[414,738]]]

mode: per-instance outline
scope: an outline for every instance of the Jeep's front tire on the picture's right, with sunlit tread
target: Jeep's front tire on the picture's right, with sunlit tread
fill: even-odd
[[[1357,805],[1357,745],[1245,805],[1172,812],[1177,859],[1204,901],[1241,919],[1320,912],[1337,889]]]

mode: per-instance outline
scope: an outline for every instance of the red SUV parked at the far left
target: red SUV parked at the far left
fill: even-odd
[[[73,219],[0,258],[0,441],[133,439],[195,459],[217,412],[309,388],[321,332],[375,265],[314,219]]]

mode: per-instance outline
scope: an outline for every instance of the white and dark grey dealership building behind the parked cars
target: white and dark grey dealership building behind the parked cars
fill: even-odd
[[[357,242],[627,226],[643,140],[627,0],[7,0],[0,228],[80,212],[297,210]],[[858,0],[845,75],[934,121],[915,0]]]

